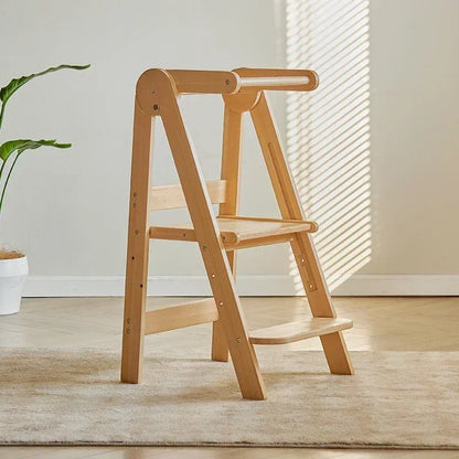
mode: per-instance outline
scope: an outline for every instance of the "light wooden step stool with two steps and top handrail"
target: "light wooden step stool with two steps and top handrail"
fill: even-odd
[[[314,252],[314,222],[303,220],[265,89],[312,90],[314,72],[237,68],[232,72],[145,72],[136,92],[121,381],[139,383],[143,335],[213,322],[212,360],[227,361],[228,350],[244,398],[265,399],[254,344],[282,344],[320,337],[330,371],[353,374],[342,330]],[[222,180],[205,182],[183,124],[182,94],[222,94],[225,103]],[[242,116],[249,111],[282,218],[237,215]],[[153,122],[161,117],[181,185],[150,186]],[[214,216],[213,204],[220,204]],[[152,210],[188,207],[192,223],[150,226]],[[200,246],[213,298],[146,312],[149,239],[192,241]],[[247,330],[235,288],[236,250],[289,242],[312,318]]]

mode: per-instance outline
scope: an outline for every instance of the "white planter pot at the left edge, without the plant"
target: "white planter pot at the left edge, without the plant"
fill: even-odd
[[[0,316],[19,312],[28,274],[28,257],[0,259]]]

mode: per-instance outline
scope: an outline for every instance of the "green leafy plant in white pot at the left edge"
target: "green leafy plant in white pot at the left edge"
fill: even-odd
[[[3,124],[4,108],[11,96],[31,79],[56,72],[63,68],[85,70],[89,65],[60,65],[50,67],[43,72],[12,79],[7,86],[0,89],[0,129]],[[71,143],[57,143],[56,140],[32,140],[18,139],[8,140],[0,146],[0,216],[3,206],[4,194],[11,173],[18,162],[19,157],[25,150],[34,150],[40,147],[70,148]],[[19,312],[22,298],[22,289],[25,277],[29,274],[28,258],[24,254],[17,250],[0,248],[0,316]]]

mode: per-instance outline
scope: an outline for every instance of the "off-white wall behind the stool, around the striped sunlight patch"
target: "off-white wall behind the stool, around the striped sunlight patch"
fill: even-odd
[[[371,1],[373,254],[365,276],[458,274],[458,9],[455,0]],[[138,75],[156,66],[282,66],[284,10],[280,0],[2,0],[2,85],[54,64],[92,63],[89,71],[36,79],[9,103],[2,140],[74,145],[25,153],[11,182],[0,236],[28,254],[30,295],[121,292]],[[281,115],[281,98],[276,107]],[[184,108],[204,173],[215,178],[222,103],[190,97]],[[284,127],[282,116],[279,121]],[[250,129],[246,147],[243,179],[252,180],[243,188],[243,212],[269,214],[273,195]],[[174,181],[170,166],[160,135],[157,183]],[[151,273],[201,276],[198,255],[192,245],[154,243]],[[286,247],[241,255],[245,291],[295,292]],[[166,280],[153,292],[185,285]],[[188,292],[202,290],[201,277],[185,280]]]

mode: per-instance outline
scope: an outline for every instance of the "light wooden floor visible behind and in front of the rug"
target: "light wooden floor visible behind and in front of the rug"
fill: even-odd
[[[173,303],[172,298],[149,298],[149,309]],[[243,300],[250,328],[300,318],[300,298]],[[339,316],[354,320],[345,331],[350,350],[459,351],[459,298],[334,298]],[[25,299],[21,312],[0,317],[0,346],[58,346],[120,349],[122,299]],[[210,345],[209,324],[146,338],[147,346]],[[319,350],[318,339],[288,345]],[[134,447],[0,447],[0,459],[151,459],[151,458],[459,458],[459,451],[396,451],[296,448],[134,448]]]

